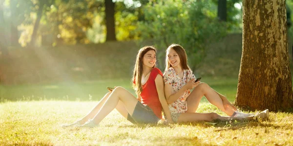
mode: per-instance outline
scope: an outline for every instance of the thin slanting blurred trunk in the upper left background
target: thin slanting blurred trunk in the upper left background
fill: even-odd
[[[43,7],[44,7],[44,3],[42,2],[42,0],[40,0],[40,6],[39,6],[38,13],[37,13],[37,19],[36,19],[36,22],[34,25],[33,34],[31,37],[30,46],[35,46],[36,39],[37,39],[37,33],[38,33],[39,26],[40,26],[41,18],[42,18]]]

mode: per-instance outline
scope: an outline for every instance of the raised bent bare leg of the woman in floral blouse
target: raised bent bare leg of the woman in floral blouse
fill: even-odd
[[[198,108],[199,102],[203,96],[206,96],[208,101],[215,105],[220,110],[224,111],[227,115],[231,116],[234,110],[230,108],[224,108],[222,98],[209,87],[206,83],[200,83],[194,90],[189,94],[187,98],[188,110],[187,112],[195,112]]]

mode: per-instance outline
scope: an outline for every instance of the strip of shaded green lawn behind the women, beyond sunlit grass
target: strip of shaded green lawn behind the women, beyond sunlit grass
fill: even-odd
[[[226,95],[233,101],[237,91],[237,79],[204,77],[202,82]],[[98,101],[107,92],[106,87],[122,86],[135,94],[131,88],[131,81],[127,79],[99,80],[86,82],[65,82],[58,84],[40,85],[0,85],[0,101],[31,101],[31,100],[70,100],[70,101]],[[207,101],[203,98],[203,101]]]

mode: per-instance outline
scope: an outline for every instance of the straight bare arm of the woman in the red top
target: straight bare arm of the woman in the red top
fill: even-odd
[[[166,114],[167,120],[172,122],[170,110],[164,95],[164,81],[163,81],[163,77],[160,74],[156,76],[155,83],[156,83],[156,88],[159,95],[159,100]]]

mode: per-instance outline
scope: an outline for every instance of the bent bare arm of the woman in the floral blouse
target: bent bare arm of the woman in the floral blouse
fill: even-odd
[[[188,89],[192,89],[195,87],[194,79],[191,79],[186,85],[184,85],[179,91],[176,93],[172,94],[172,85],[166,84],[165,85],[165,96],[167,99],[168,104],[172,104],[175,102],[177,99],[180,98],[181,95],[184,94],[185,91]]]

